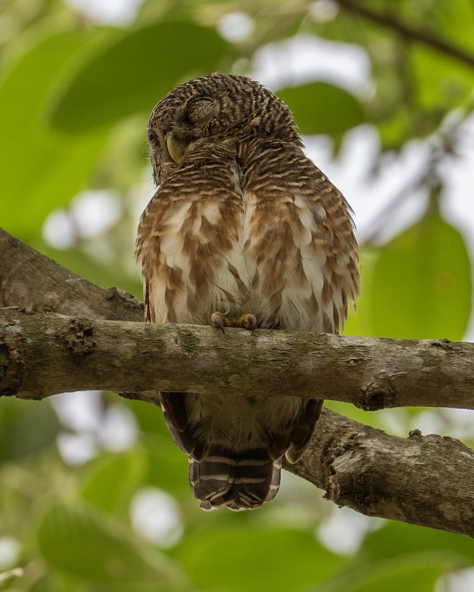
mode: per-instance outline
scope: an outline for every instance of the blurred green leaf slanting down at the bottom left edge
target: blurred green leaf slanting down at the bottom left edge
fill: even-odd
[[[53,568],[106,590],[188,589],[186,578],[170,559],[141,549],[118,523],[90,509],[56,504],[41,520],[38,543]]]

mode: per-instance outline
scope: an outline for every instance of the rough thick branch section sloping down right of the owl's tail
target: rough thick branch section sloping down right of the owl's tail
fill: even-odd
[[[323,409],[309,451],[283,466],[339,506],[474,536],[474,451],[454,438],[390,436]]]

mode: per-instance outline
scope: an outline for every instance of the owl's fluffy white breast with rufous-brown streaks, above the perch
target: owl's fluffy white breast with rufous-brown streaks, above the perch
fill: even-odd
[[[219,162],[201,163],[201,181],[194,175],[191,182],[193,167],[182,166],[143,215],[141,224],[159,220],[144,233],[150,320],[209,324],[219,310],[230,317],[252,313],[260,328],[337,332],[357,262],[338,246],[332,204],[324,191],[318,196],[318,182],[324,189],[329,181],[321,173],[296,178],[291,169],[262,175],[262,168],[271,170],[271,153],[244,175],[235,156],[226,154],[227,162],[217,156]],[[345,218],[337,214],[352,235],[337,197]]]

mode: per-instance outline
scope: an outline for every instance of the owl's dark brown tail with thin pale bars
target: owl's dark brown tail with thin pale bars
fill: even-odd
[[[281,459],[272,461],[266,448],[233,452],[213,445],[203,461],[189,459],[191,490],[203,510],[258,508],[276,496],[280,471]]]

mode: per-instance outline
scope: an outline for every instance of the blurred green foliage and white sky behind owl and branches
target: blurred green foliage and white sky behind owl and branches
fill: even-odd
[[[0,226],[141,298],[150,111],[194,76],[248,75],[354,209],[345,333],[470,340],[473,30],[472,0],[2,0]],[[327,406],[474,443],[471,411]],[[286,472],[258,511],[203,513],[146,403],[0,400],[0,590],[470,592],[473,566],[471,539],[338,509]]]

